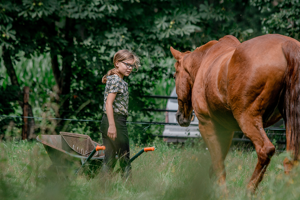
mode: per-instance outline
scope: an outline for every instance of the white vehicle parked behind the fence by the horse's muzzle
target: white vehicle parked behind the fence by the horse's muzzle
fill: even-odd
[[[176,94],[176,88],[174,87],[170,97],[177,97]],[[198,119],[195,116],[195,113],[193,113],[192,120],[190,122],[189,127],[181,127],[179,126],[177,120],[176,120],[176,112],[178,110],[178,102],[176,98],[168,99],[167,101],[167,111],[166,112],[166,123],[176,123],[177,125],[165,125],[163,136],[165,138],[165,141],[168,142],[183,142],[183,141],[173,141],[174,137],[201,137],[198,127]],[[171,111],[170,111],[171,110]],[[172,139],[173,138],[173,139]]]

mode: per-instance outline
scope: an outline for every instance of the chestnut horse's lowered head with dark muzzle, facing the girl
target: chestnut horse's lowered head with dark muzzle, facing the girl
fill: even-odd
[[[171,53],[177,60],[175,63],[175,85],[176,94],[178,96],[178,110],[176,112],[176,119],[180,126],[187,127],[193,116],[192,107],[192,88],[190,83],[190,74],[184,64],[187,64],[184,56],[188,52],[179,52],[171,46]]]

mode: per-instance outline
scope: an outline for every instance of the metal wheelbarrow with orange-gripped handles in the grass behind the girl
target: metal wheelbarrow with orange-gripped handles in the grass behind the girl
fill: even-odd
[[[77,133],[59,132],[60,135],[39,135],[37,140],[44,148],[52,162],[50,170],[65,171],[73,166],[75,173],[83,166],[95,172],[104,159],[103,145],[91,140],[87,135]],[[154,151],[154,147],[143,148],[134,155],[130,161],[133,162],[143,152]],[[116,159],[118,156],[116,155]],[[118,170],[119,171],[119,170]]]

